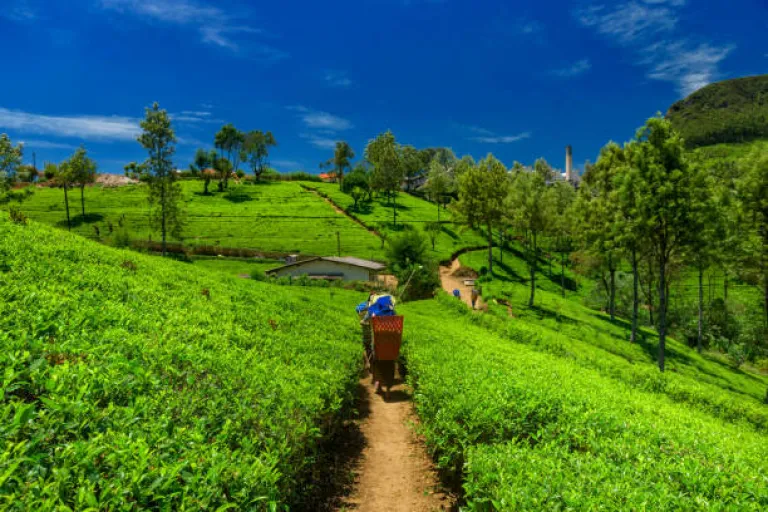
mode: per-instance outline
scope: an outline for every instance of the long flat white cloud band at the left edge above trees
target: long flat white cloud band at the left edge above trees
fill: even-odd
[[[136,140],[139,120],[106,116],[46,116],[0,107],[0,128],[93,140]]]

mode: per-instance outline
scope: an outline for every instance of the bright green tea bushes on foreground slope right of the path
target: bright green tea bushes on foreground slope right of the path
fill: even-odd
[[[423,432],[441,466],[463,476],[470,509],[768,506],[766,423],[726,419],[684,399],[695,386],[675,371],[660,376],[643,346],[623,342],[626,354],[612,355],[554,329],[554,319],[505,323],[447,296],[401,311]],[[595,329],[588,336],[610,325],[578,321]],[[688,358],[670,354],[676,368]],[[710,370],[730,372],[723,378],[739,385],[747,379],[708,362],[701,375]],[[656,383],[627,371],[647,371]],[[727,385],[698,391],[701,399],[719,394],[723,404],[751,401],[762,407],[756,415],[768,414]]]

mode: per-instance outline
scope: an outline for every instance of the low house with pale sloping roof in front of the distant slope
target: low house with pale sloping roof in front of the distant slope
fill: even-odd
[[[287,263],[266,273],[275,277],[308,276],[327,281],[375,281],[386,265],[351,256],[325,256]]]

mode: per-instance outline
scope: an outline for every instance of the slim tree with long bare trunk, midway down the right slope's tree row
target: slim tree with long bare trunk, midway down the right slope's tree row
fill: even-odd
[[[525,237],[528,248],[528,270],[531,294],[528,306],[533,307],[536,297],[536,269],[538,267],[538,238],[550,226],[551,208],[546,201],[547,182],[540,172],[519,171],[513,177],[512,188],[506,201],[508,221]]]

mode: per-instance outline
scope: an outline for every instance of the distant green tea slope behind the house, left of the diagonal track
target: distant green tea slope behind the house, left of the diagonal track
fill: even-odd
[[[335,255],[336,232],[340,233],[342,253],[364,258],[378,252],[378,238],[325,201],[295,182],[269,182],[260,185],[232,184],[233,195],[202,195],[202,182],[183,181],[186,208],[184,242],[188,245],[247,247],[263,251]],[[215,188],[215,186],[211,186]],[[160,239],[150,232],[146,188],[143,185],[120,188],[92,187],[85,191],[85,219],[80,216],[80,192],[70,194],[70,212],[75,232],[109,240],[109,223],[117,230],[119,219],[133,239]],[[22,205],[34,220],[66,228],[64,196],[61,189],[36,189]],[[270,216],[270,217],[265,217]],[[304,218],[290,218],[304,217]]]

